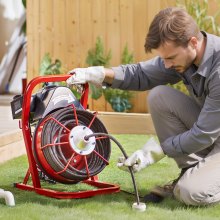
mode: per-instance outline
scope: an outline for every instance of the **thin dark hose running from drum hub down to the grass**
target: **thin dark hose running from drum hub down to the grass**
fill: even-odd
[[[93,134],[90,134],[90,135],[86,135],[84,137],[84,139],[87,141],[90,137],[93,137],[93,136],[106,136],[106,137],[108,137],[109,139],[114,141],[115,144],[119,147],[119,149],[121,150],[121,152],[124,155],[125,159],[128,158],[128,155],[126,154],[126,152],[125,152],[124,148],[122,147],[122,145],[112,135],[106,134],[106,133],[93,133]],[[136,196],[136,201],[137,201],[137,204],[139,205],[140,198],[139,198],[139,194],[138,194],[138,190],[137,190],[136,181],[135,181],[135,178],[134,178],[134,172],[132,170],[132,167],[128,167],[128,168],[129,168],[129,171],[130,171],[130,174],[131,174],[131,179],[132,179],[132,182],[133,182],[133,185],[134,185],[134,192],[135,192],[135,196]]]

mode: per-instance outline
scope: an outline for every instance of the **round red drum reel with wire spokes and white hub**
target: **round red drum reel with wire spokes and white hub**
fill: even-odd
[[[35,132],[33,152],[41,170],[61,183],[78,183],[100,173],[110,158],[108,138],[84,137],[107,133],[102,122],[85,110],[66,107],[43,118]]]

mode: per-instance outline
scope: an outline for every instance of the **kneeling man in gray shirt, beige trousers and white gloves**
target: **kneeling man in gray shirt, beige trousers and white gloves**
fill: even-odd
[[[139,171],[167,155],[181,169],[180,177],[168,187],[178,200],[196,206],[218,203],[220,38],[201,32],[185,10],[166,8],[153,19],[145,50],[155,50],[158,56],[111,69],[74,69],[67,82],[151,89],[148,105],[160,145],[148,141],[119,166]],[[190,96],[165,86],[180,80]]]

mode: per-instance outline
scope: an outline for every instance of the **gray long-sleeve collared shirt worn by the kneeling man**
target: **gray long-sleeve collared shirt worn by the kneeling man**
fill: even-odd
[[[166,69],[160,57],[112,68],[115,72],[113,88],[143,91],[180,80],[186,84],[201,112],[190,130],[161,143],[170,157],[196,153],[211,146],[220,136],[220,37],[203,34],[207,44],[197,70],[191,66],[184,74],[179,74]]]

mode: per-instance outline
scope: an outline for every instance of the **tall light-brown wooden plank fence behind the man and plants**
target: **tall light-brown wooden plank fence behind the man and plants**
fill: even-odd
[[[85,67],[98,36],[112,52],[111,66],[120,64],[126,44],[135,62],[149,58],[144,52],[149,24],[160,9],[174,4],[174,0],[28,0],[28,81],[39,75],[46,53],[62,61],[64,72]],[[137,93],[132,112],[147,112],[145,99],[146,92]],[[90,108],[111,110],[103,99],[90,100]]]

